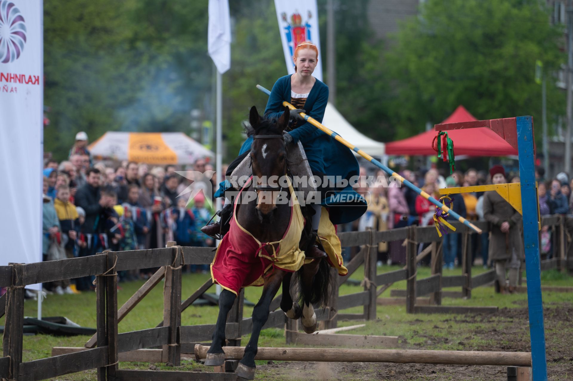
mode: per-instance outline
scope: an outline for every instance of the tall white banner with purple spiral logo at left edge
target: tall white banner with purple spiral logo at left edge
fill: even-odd
[[[0,0],[0,266],[42,260],[42,0]]]

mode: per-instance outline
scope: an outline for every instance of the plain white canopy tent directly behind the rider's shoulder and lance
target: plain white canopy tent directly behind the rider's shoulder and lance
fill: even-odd
[[[358,132],[356,128],[352,127],[352,125],[344,119],[344,116],[342,116],[331,103],[326,105],[322,124],[329,129],[332,129],[332,131],[336,132],[342,136],[342,138],[348,140],[348,142],[354,144],[368,155],[382,156],[385,154],[384,143],[376,142],[376,140],[370,139],[363,133]]]

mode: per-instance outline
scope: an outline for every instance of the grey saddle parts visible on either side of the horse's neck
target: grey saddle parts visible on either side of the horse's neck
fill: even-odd
[[[309,200],[316,195],[316,188],[313,186],[310,179],[312,178],[311,166],[308,164],[307,155],[304,153],[303,144],[300,142],[291,143],[286,146],[286,162],[288,170],[293,177],[297,176],[301,179],[299,184],[293,184],[296,191],[303,192],[304,200]],[[232,179],[240,179],[242,176],[249,178],[253,175],[251,170],[251,158],[249,155],[234,169],[231,173]],[[304,177],[303,177],[304,176]],[[302,203],[302,202],[301,202]]]

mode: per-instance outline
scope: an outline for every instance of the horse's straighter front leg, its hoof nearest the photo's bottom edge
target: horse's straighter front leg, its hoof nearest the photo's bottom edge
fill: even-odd
[[[258,336],[261,333],[262,326],[265,325],[266,320],[269,318],[270,302],[281,286],[285,273],[283,270],[274,269],[273,274],[265,280],[261,298],[253,308],[253,332],[251,333],[249,343],[245,347],[245,355],[239,362],[239,366],[236,370],[237,376],[239,377],[248,380],[254,379],[254,356],[257,354]]]

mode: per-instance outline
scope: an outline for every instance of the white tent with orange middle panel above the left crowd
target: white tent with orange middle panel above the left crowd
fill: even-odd
[[[213,152],[183,132],[106,132],[88,150],[95,158],[147,164],[192,164],[214,158]]]

